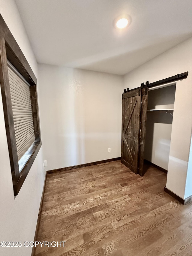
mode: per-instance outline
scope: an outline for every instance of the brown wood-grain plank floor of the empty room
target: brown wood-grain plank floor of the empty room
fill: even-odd
[[[192,255],[192,203],[164,192],[166,174],[120,161],[47,175],[35,255]]]

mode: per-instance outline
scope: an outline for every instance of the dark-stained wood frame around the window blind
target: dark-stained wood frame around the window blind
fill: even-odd
[[[19,73],[30,83],[30,94],[32,103],[32,113],[34,122],[35,142],[32,144],[31,156],[26,162],[22,171],[19,173],[19,164],[16,149],[15,130],[13,123],[13,111],[10,97],[9,77],[7,69],[7,59],[19,71]],[[0,14],[0,83],[1,95],[4,110],[5,128],[7,134],[7,143],[10,157],[10,167],[13,180],[14,195],[19,190],[26,179],[27,174],[41,148],[41,133],[39,124],[37,79],[29,63],[22,53],[19,45],[15,41],[9,28]]]

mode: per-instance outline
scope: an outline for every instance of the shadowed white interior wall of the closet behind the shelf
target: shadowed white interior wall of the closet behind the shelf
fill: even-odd
[[[148,92],[148,110],[173,109],[176,86]],[[173,114],[173,113],[171,113]],[[148,111],[144,158],[168,170],[173,117],[166,111]]]

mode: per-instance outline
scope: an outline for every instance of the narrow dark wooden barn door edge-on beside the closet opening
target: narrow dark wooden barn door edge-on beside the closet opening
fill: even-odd
[[[147,121],[147,101],[148,101],[148,88],[143,88],[141,91],[141,117],[140,117],[140,136],[139,136],[139,162],[138,173],[143,176],[146,173],[146,166],[144,162],[144,147],[145,147],[145,134],[146,134],[146,121]]]

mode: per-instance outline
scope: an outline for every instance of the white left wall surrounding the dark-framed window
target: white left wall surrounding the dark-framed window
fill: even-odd
[[[1,0],[0,11],[37,77],[38,66],[15,2]],[[42,170],[42,148],[19,194],[14,198],[1,92],[0,173],[0,241],[33,241],[45,175]],[[31,251],[32,248],[26,248],[24,245],[21,248],[0,247],[0,254],[6,256],[28,256],[31,255]]]

